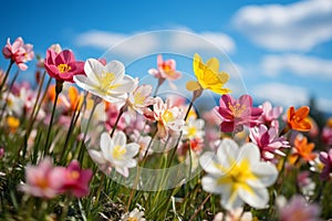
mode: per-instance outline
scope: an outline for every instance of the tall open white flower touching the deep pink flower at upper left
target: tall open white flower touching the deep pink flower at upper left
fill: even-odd
[[[85,75],[75,75],[74,82],[85,91],[110,102],[124,102],[133,91],[134,78],[125,75],[125,67],[118,61],[105,66],[97,60],[89,59],[84,64]]]

